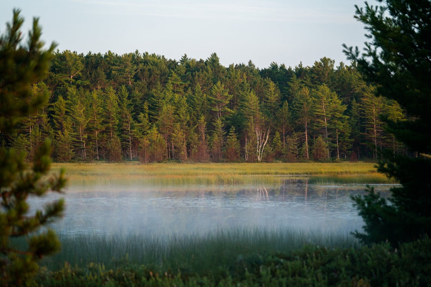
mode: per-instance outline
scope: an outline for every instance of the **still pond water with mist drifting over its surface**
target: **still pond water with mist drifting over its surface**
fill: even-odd
[[[386,194],[389,185],[375,190]],[[361,230],[350,195],[365,185],[284,181],[235,187],[73,187],[62,195],[66,215],[52,227],[62,234],[134,232],[149,235],[204,234],[219,228]],[[58,196],[31,198],[33,208]]]

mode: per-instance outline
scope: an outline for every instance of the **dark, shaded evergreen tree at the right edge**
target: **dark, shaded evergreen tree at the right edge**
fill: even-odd
[[[382,2],[381,0],[379,2]],[[408,118],[382,117],[386,129],[405,143],[417,157],[382,152],[378,171],[395,178],[402,187],[391,189],[388,202],[369,190],[363,198],[356,197],[357,207],[365,220],[365,234],[356,233],[364,242],[387,239],[393,245],[431,234],[431,2],[384,1],[381,6],[365,9],[356,6],[356,19],[369,31],[364,53],[344,45],[349,59],[358,62],[358,69],[368,81],[376,83],[376,95],[396,100]],[[369,109],[376,110],[378,98],[370,95]],[[373,135],[378,132],[378,114],[373,116]],[[393,114],[393,112],[392,112]],[[378,141],[373,137],[374,144]]]

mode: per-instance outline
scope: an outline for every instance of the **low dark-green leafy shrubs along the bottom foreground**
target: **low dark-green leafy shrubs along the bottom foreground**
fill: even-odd
[[[126,257],[112,267],[102,263],[72,267],[66,262],[58,271],[39,272],[37,282],[44,286],[427,286],[430,254],[431,241],[426,238],[399,249],[381,243],[336,249],[305,245],[283,253],[253,250],[235,253],[230,262],[219,261],[222,256],[217,254],[206,257],[209,254],[204,252],[202,259],[212,266],[207,269],[185,261],[176,269],[140,265]],[[187,262],[194,258],[200,260],[191,256]]]

